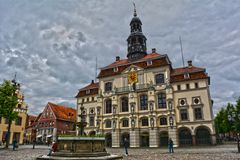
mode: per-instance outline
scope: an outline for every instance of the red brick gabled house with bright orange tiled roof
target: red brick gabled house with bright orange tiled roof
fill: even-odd
[[[35,122],[36,141],[50,143],[60,134],[75,134],[76,110],[48,102]]]

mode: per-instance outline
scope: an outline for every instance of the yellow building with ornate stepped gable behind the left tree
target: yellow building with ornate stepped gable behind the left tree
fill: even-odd
[[[18,97],[18,104],[15,108],[15,111],[18,113],[18,117],[15,121],[12,122],[10,129],[10,139],[9,143],[12,144],[13,139],[15,138],[19,144],[24,142],[24,131],[27,119],[27,104],[24,101],[24,95],[21,92],[20,84],[15,80],[12,81],[16,87],[16,94]],[[0,141],[6,141],[7,135],[8,120],[6,118],[0,117]]]

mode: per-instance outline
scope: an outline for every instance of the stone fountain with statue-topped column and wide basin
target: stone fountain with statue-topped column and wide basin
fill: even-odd
[[[123,159],[122,156],[112,155],[106,151],[104,137],[86,137],[84,128],[87,123],[85,114],[83,114],[83,104],[80,107],[80,122],[77,123],[80,129],[80,135],[77,136],[60,136],[57,139],[57,152],[51,156],[42,155],[37,160],[116,160]]]

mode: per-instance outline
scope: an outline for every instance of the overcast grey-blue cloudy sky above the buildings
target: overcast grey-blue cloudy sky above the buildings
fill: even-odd
[[[240,96],[240,1],[135,0],[148,52],[206,68],[216,113]],[[0,82],[17,81],[39,114],[47,102],[76,107],[78,89],[126,58],[131,0],[0,0]]]

